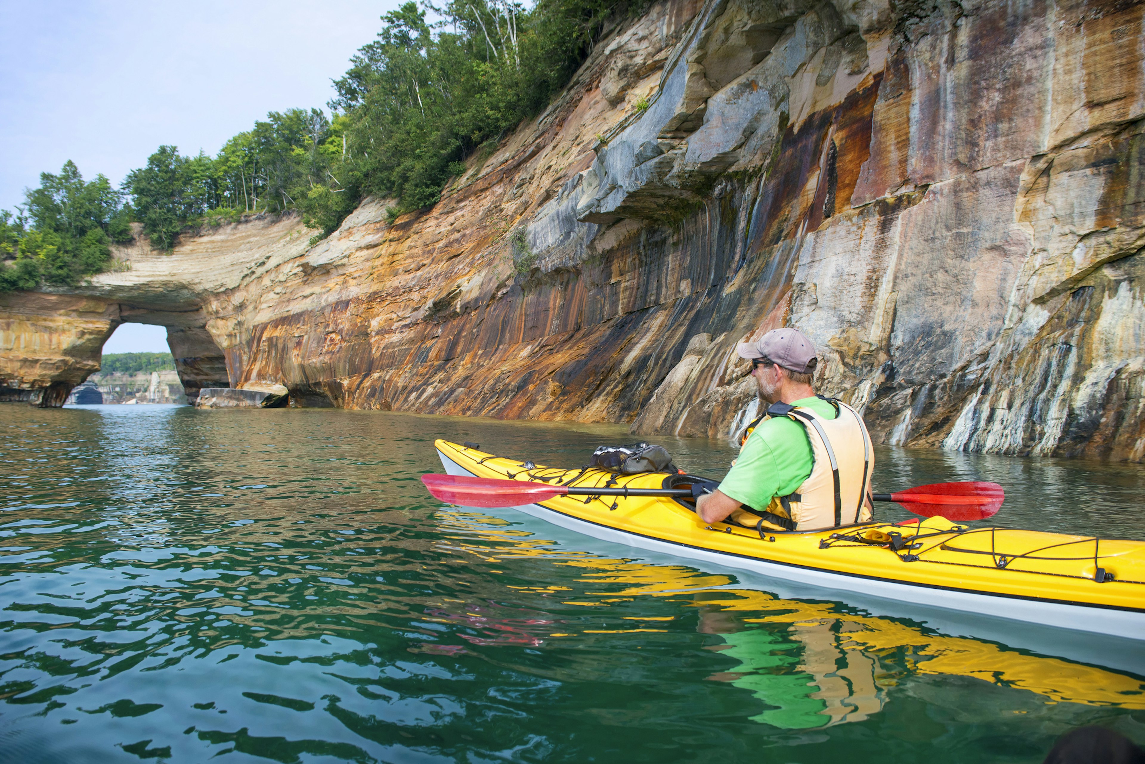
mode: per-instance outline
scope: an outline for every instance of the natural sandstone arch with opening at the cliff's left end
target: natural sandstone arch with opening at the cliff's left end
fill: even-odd
[[[243,282],[274,255],[305,252],[310,233],[294,215],[252,215],[184,236],[174,253],[137,236],[114,250],[111,273],[74,288],[0,294],[0,401],[63,405],[100,369],[103,344],[124,323],[167,328],[188,400],[204,387],[239,385],[244,354],[227,348],[238,334]]]

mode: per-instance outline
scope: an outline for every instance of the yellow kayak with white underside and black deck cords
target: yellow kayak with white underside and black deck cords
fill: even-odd
[[[452,475],[578,488],[679,488],[694,476],[537,466],[434,443]],[[652,551],[916,605],[1145,639],[1145,542],[971,527],[941,517],[812,531],[706,523],[689,499],[558,496],[516,507],[558,526]]]

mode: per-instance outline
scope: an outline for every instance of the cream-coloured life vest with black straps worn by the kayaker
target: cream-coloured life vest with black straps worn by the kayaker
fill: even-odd
[[[808,408],[775,403],[748,425],[741,443],[764,419],[782,416],[802,424],[811,443],[811,474],[793,494],[772,498],[763,512],[744,507],[733,512],[732,520],[776,530],[811,530],[870,520],[863,499],[870,490],[875,454],[867,425],[846,403],[819,397],[835,407],[834,419]]]

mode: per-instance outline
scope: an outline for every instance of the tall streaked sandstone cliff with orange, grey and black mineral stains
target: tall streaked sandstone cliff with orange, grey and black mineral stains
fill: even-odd
[[[884,442],[1140,460],[1143,16],[661,0],[432,210],[0,297],[0,394],[58,404],[143,321],[192,396],[728,436],[735,344],[791,324]]]

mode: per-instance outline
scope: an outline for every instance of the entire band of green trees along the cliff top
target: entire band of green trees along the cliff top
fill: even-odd
[[[119,189],[85,182],[71,162],[42,173],[16,214],[0,211],[0,292],[105,270],[132,222],[169,251],[187,228],[244,213],[299,211],[326,236],[369,195],[396,199],[395,215],[431,206],[469,155],[551,102],[606,25],[647,1],[406,2],[334,81],[332,119],[271,111],[214,157],[160,145]]]

